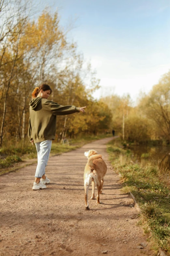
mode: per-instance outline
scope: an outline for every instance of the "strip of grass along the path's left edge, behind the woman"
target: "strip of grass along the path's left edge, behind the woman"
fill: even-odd
[[[83,136],[83,138],[70,140],[69,145],[53,141],[50,156],[74,150],[87,143],[106,137],[111,137],[111,134]],[[29,140],[22,140],[16,143],[9,142],[8,145],[10,146],[0,148],[0,175],[11,170],[16,163],[37,158],[36,147],[35,145],[32,146]]]

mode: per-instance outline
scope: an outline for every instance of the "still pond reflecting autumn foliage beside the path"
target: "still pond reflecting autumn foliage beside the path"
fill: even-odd
[[[152,161],[164,170],[170,170],[170,146],[135,145],[130,150],[137,161]]]

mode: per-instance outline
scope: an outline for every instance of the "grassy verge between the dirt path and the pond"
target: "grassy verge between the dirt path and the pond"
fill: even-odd
[[[154,249],[161,247],[170,255],[170,188],[161,181],[158,166],[150,162],[141,166],[119,139],[107,144],[107,152],[114,170],[122,176],[122,191],[131,192],[142,210],[139,223],[145,233],[151,231]]]

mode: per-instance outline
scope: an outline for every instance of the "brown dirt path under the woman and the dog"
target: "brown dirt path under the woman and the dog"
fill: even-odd
[[[33,191],[36,164],[0,177],[0,255],[153,255],[141,227],[137,211],[127,207],[132,199],[120,194],[117,175],[108,162],[102,139],[77,150],[51,157],[48,188]],[[84,151],[95,149],[104,156],[108,167],[102,204],[89,200],[84,206],[83,172],[87,159]],[[89,198],[91,189],[89,191]]]

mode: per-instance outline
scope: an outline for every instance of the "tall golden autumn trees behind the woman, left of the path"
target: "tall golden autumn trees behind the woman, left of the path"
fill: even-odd
[[[52,89],[50,100],[88,110],[86,115],[59,116],[58,140],[106,132],[111,111],[92,98],[99,80],[77,44],[67,39],[70,27],[62,28],[58,12],[49,9],[32,19],[33,9],[29,2],[0,1],[0,146],[27,137],[31,93],[42,83]]]

